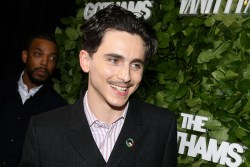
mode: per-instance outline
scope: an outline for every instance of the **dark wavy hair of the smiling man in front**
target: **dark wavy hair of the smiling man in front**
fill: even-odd
[[[99,10],[81,28],[83,32],[83,49],[90,55],[97,51],[108,29],[139,35],[146,46],[146,58],[155,54],[157,50],[155,31],[144,18],[137,17],[131,11],[115,4]]]

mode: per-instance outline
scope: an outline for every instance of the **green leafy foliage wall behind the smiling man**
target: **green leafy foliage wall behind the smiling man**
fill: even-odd
[[[87,2],[77,0],[77,15],[62,18],[66,28],[57,27],[55,31],[60,45],[61,78],[53,80],[54,87],[69,103],[74,103],[86,88],[86,74],[80,69],[78,55]],[[222,0],[223,4],[226,0]],[[195,134],[197,140],[205,139],[206,147],[208,141],[216,140],[215,152],[226,152],[220,149],[223,142],[244,148],[243,153],[237,153],[242,159],[240,165],[234,164],[232,154],[224,155],[228,163],[223,163],[220,156],[204,158],[204,148],[198,148],[200,152],[195,156],[190,156],[186,148],[179,154],[178,166],[249,167],[250,17],[223,13],[180,15],[179,10],[180,1],[154,2],[148,21],[157,32],[158,52],[146,66],[135,95],[176,113],[178,131]],[[181,113],[207,117],[206,132],[183,129]]]

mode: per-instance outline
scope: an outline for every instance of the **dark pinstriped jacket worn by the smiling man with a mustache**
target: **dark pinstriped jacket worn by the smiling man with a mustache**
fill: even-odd
[[[131,100],[106,163],[92,137],[82,98],[31,119],[20,167],[176,167],[177,123],[166,109]],[[133,139],[128,147],[126,140]]]

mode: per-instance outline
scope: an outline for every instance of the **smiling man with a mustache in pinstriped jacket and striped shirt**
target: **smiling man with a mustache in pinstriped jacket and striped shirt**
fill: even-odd
[[[87,91],[31,119],[20,166],[176,167],[174,114],[131,98],[156,49],[154,31],[119,6],[90,18],[79,55]]]

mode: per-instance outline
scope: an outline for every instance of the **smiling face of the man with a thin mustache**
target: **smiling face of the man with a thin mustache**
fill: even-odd
[[[81,51],[80,63],[89,73],[88,100],[96,105],[123,108],[138,88],[145,61],[144,42],[138,35],[109,30],[97,52]]]

